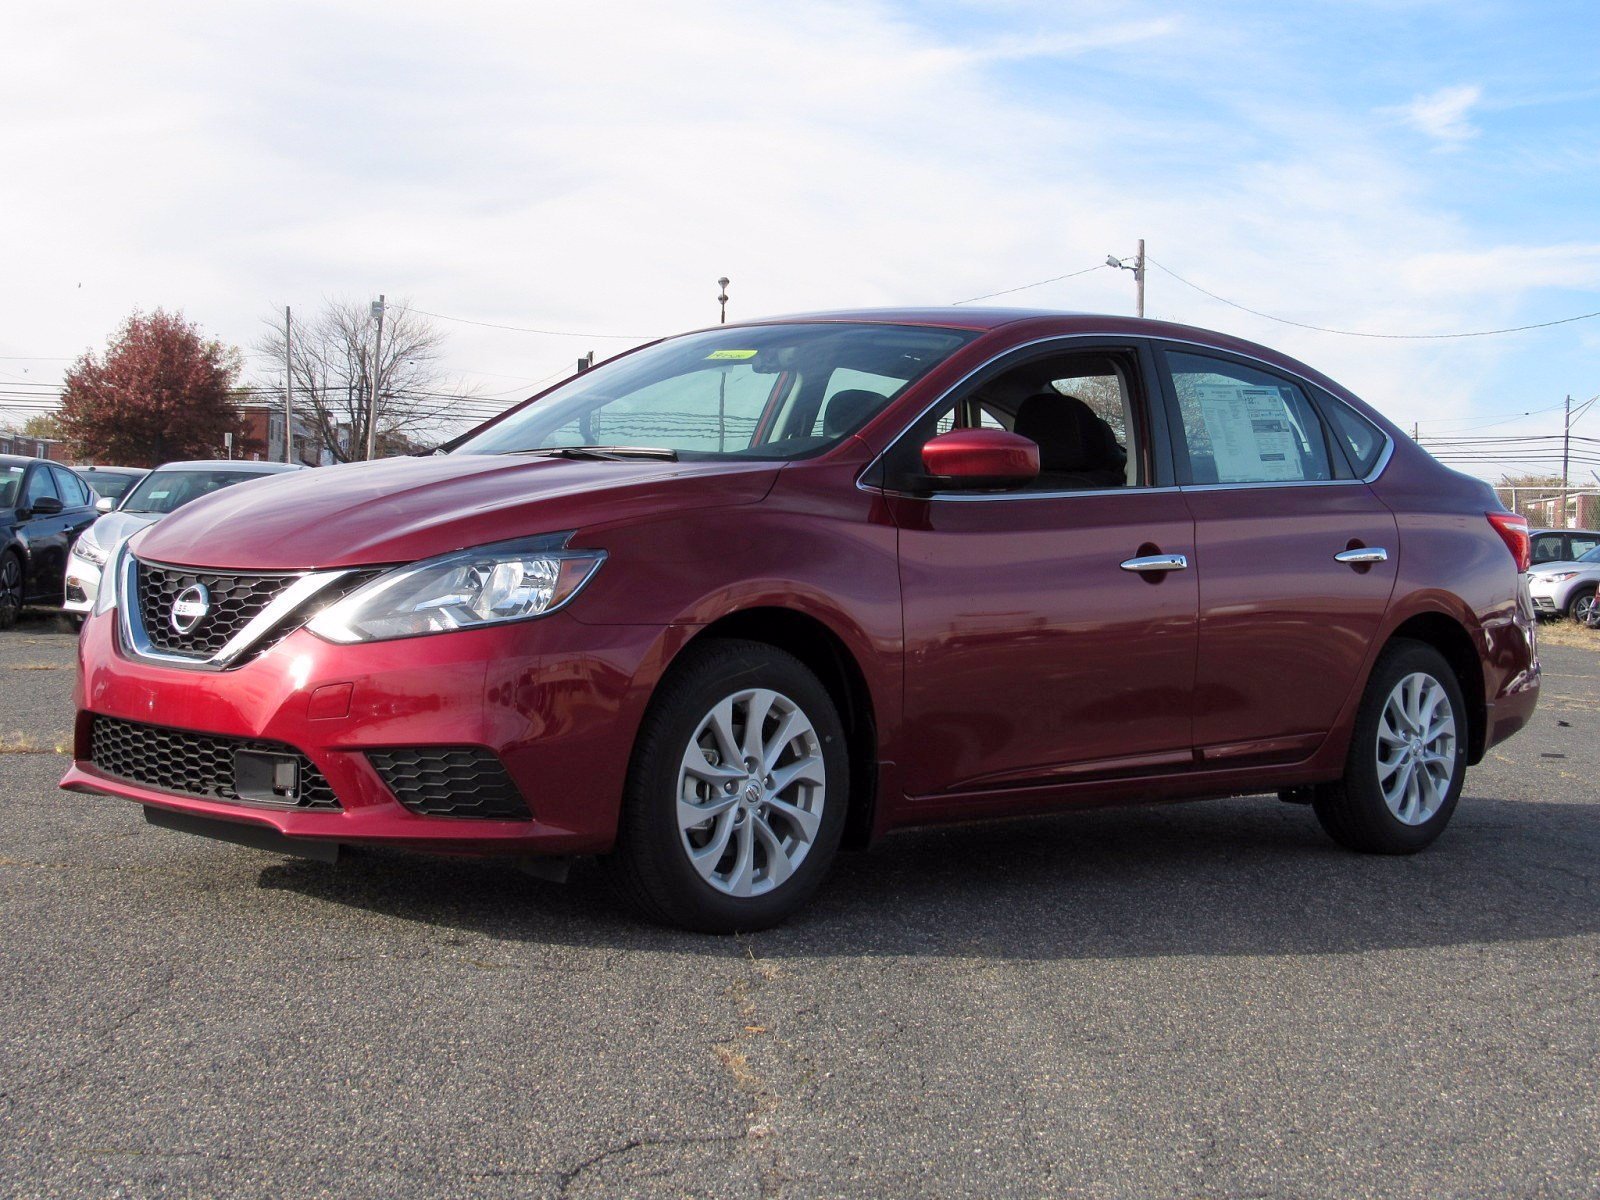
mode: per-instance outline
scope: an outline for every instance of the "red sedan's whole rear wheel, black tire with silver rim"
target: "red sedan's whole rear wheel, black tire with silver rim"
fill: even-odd
[[[1422,728],[1411,736],[1418,714]],[[1390,643],[1362,696],[1344,778],[1312,800],[1317,821],[1347,850],[1414,854],[1456,811],[1467,734],[1461,683],[1443,656],[1422,642]]]

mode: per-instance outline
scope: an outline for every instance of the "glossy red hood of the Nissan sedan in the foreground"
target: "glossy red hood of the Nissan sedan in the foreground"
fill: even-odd
[[[152,526],[134,550],[152,562],[237,571],[403,563],[509,538],[754,504],[778,466],[523,454],[352,462],[218,491]]]

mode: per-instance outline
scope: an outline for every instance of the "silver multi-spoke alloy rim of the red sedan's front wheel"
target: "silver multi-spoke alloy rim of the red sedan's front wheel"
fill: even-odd
[[[728,896],[760,896],[794,875],[827,802],[822,747],[787,696],[750,688],[707,712],[678,768],[678,834],[690,864]]]

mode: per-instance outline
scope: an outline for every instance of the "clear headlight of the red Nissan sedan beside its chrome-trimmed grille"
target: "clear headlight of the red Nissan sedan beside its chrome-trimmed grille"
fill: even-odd
[[[395,568],[333,602],[306,627],[330,642],[382,642],[554,613],[605,562],[605,550],[568,550],[568,538],[494,542]]]

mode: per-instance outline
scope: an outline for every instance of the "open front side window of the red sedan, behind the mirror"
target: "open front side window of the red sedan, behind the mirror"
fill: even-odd
[[[1014,363],[923,416],[896,443],[890,474],[920,472],[922,445],[954,429],[1006,429],[1038,445],[1032,491],[1142,483],[1134,354],[1080,350]]]

